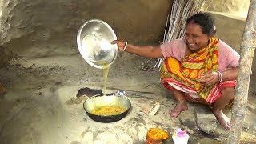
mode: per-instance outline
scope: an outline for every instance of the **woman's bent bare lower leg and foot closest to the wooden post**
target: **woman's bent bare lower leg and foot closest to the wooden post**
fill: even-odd
[[[230,118],[223,114],[222,110],[234,98],[234,87],[226,87],[222,90],[221,98],[214,102],[213,113],[218,122],[226,129],[230,130]]]

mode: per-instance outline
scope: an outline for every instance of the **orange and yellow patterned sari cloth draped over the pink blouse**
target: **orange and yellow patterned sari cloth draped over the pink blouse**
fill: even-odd
[[[196,91],[206,102],[214,102],[217,85],[205,86],[198,82],[199,76],[206,71],[218,70],[218,38],[210,38],[209,45],[192,53],[179,62],[175,58],[166,58],[160,69],[162,84],[174,83],[187,90]],[[220,93],[219,93],[220,94]],[[218,94],[218,97],[219,97]]]

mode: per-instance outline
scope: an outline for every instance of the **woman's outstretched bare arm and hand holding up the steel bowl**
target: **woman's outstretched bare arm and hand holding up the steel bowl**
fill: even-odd
[[[119,50],[123,50],[126,46],[126,42],[121,40],[114,40],[112,44],[117,44]],[[134,46],[127,44],[126,49],[124,50],[131,54],[136,54],[146,58],[162,58],[162,50],[160,46]]]

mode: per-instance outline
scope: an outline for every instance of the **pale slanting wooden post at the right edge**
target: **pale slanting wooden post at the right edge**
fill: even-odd
[[[246,115],[246,105],[250,84],[251,65],[256,47],[256,0],[250,1],[250,7],[246,19],[246,27],[243,33],[240,47],[240,62],[238,67],[238,86],[234,94],[232,108],[231,130],[227,143],[238,144],[242,132],[243,121]]]

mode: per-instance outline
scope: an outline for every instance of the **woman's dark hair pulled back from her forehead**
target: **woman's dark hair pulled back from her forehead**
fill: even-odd
[[[186,20],[186,24],[195,23],[201,26],[202,33],[206,35],[214,35],[216,33],[216,27],[214,26],[214,19],[208,13],[198,13],[192,15]]]

